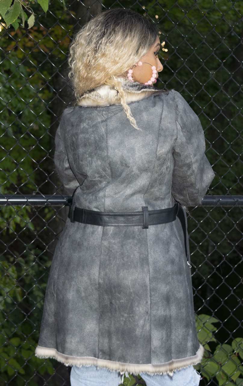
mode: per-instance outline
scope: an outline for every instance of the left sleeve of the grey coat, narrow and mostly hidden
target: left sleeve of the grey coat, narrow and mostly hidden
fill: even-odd
[[[69,165],[68,154],[64,146],[63,131],[65,130],[66,121],[64,113],[56,131],[54,163],[56,166],[56,171],[62,181],[62,184],[64,185],[66,193],[71,196],[73,195],[74,190],[79,186],[79,182],[76,179]]]

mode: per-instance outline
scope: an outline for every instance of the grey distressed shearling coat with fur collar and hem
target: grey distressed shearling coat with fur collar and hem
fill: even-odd
[[[200,204],[214,173],[198,117],[174,90],[125,80],[123,88],[141,130],[110,86],[64,110],[55,164],[67,193],[77,207],[101,212]],[[133,374],[172,374],[199,363],[203,347],[179,219],[143,229],[68,218],[35,355]]]

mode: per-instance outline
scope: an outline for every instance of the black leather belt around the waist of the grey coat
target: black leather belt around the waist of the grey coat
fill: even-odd
[[[187,264],[191,267],[188,234],[186,230],[186,217],[181,204],[175,203],[172,208],[148,210],[148,207],[142,207],[142,212],[98,212],[76,207],[73,202],[69,208],[68,217],[71,222],[82,222],[84,224],[100,225],[101,227],[136,227],[142,226],[148,229],[149,225],[159,225],[175,221],[179,218],[184,232],[185,250]]]

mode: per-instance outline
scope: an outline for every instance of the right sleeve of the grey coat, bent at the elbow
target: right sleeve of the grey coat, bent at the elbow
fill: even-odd
[[[201,122],[186,100],[173,91],[177,139],[172,154],[174,171],[171,193],[181,205],[195,206],[201,203],[214,172],[205,153],[205,138]]]

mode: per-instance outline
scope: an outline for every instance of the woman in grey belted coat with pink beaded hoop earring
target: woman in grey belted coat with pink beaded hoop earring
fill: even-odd
[[[154,25],[122,8],[71,44],[78,105],[62,115],[55,164],[73,204],[35,354],[72,365],[72,386],[115,386],[128,372],[147,386],[199,383],[181,205],[200,204],[214,173],[196,114],[153,87],[159,47]]]

